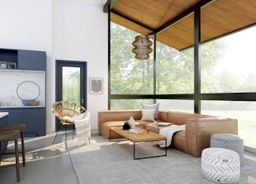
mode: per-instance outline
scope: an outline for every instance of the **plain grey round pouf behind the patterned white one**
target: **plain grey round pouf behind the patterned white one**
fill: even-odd
[[[210,147],[220,147],[234,150],[239,154],[240,166],[243,165],[243,140],[235,134],[213,134],[210,137]]]

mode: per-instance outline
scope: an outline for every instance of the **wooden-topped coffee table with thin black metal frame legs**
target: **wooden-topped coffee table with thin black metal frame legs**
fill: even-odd
[[[113,131],[116,134],[121,135],[123,138],[127,138],[131,142],[134,142],[134,160],[135,159],[142,159],[142,158],[155,158],[155,157],[162,157],[167,155],[167,148],[166,148],[166,154],[162,155],[156,155],[156,156],[150,156],[150,157],[142,157],[142,158],[136,158],[136,150],[135,150],[135,144],[136,142],[154,142],[154,141],[161,141],[165,140],[166,137],[162,136],[160,134],[156,134],[154,132],[146,133],[146,130],[142,129],[143,132],[140,134],[131,133],[129,130],[122,130],[122,127],[110,127],[110,142],[111,142],[111,131]]]

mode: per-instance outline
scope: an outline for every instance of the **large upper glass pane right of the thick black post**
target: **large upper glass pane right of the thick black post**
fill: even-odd
[[[202,44],[202,93],[256,91],[256,26]]]

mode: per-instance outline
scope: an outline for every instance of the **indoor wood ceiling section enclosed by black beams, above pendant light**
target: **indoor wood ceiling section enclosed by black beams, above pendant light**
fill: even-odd
[[[197,2],[199,0],[118,0],[112,10],[155,30]]]

